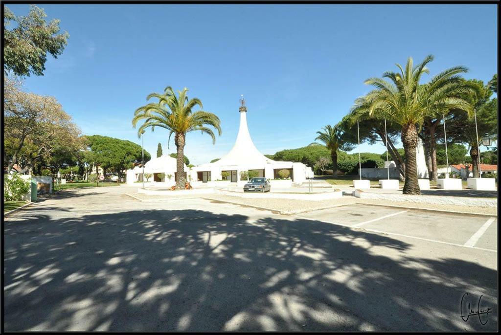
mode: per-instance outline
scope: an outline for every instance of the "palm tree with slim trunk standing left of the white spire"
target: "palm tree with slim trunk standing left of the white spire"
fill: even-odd
[[[141,132],[151,127],[151,131],[155,127],[165,128],[169,131],[167,147],[170,142],[170,137],[174,134],[174,144],[177,149],[176,158],[176,189],[185,188],[184,179],[184,146],[186,144],[186,133],[191,131],[201,131],[212,137],[212,144],[215,144],[216,138],[214,132],[206,126],[211,126],[217,130],[218,135],[221,135],[221,127],[219,118],[210,112],[202,110],[192,112],[195,106],[202,107],[202,102],[198,98],[188,100],[186,96],[187,88],[178,91],[178,96],[174,93],[170,86],[166,87],[163,94],[151,93],[146,97],[146,100],[157,98],[157,103],[148,103],[145,106],[139,107],[134,112],[132,125],[136,128],[138,121],[145,120],[138,129],[138,136]]]

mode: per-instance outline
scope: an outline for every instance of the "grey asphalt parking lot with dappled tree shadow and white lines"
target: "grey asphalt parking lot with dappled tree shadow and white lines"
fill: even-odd
[[[5,221],[5,330],[497,329],[497,217],[126,192],[62,192]]]

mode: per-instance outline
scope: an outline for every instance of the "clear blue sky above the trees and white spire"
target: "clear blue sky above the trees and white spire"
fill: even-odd
[[[28,5],[8,5],[26,15]],[[25,88],[55,96],[84,134],[140,144],[134,110],[151,92],[187,87],[221,119],[212,145],[187,136],[194,164],[224,155],[238,131],[238,99],[247,101],[250,134],[263,153],[313,142],[353,101],[364,80],[433,54],[431,75],[452,66],[484,82],[497,72],[496,5],[40,5],[70,34],[45,75]],[[145,134],[174,152],[168,133]],[[382,144],[362,145],[382,153]]]

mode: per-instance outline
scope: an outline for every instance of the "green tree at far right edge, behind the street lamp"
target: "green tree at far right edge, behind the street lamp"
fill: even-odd
[[[481,80],[470,79],[468,82],[476,85],[476,93],[463,94],[462,97],[475,108],[478,144],[482,145],[483,136],[497,136],[497,98],[490,99],[492,91]],[[474,116],[460,109],[453,109],[450,118],[447,118],[445,122],[447,140],[469,145],[472,175],[473,178],[478,178],[481,157],[477,145]]]

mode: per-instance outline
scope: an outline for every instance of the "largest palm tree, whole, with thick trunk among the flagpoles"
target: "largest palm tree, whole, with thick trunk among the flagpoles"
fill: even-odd
[[[420,194],[417,180],[416,147],[418,128],[421,128],[426,117],[448,113],[451,109],[472,112],[471,105],[458,98],[458,92],[467,89],[457,85],[458,73],[466,72],[464,67],[454,67],[434,76],[428,83],[419,84],[421,76],[429,70],[426,64],[433,61],[427,56],[421,63],[413,67],[409,57],[405,69],[396,64],[399,73],[385,72],[383,78],[370,78],[365,84],[376,89],[369,92],[366,101],[369,114],[379,115],[402,127],[401,140],[405,150],[405,184],[403,194]]]

